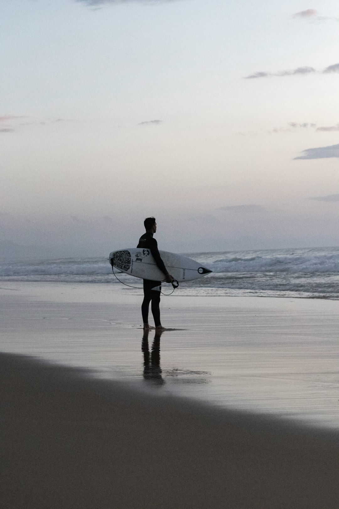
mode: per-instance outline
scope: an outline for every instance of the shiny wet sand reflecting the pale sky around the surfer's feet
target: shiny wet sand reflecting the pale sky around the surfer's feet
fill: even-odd
[[[120,285],[2,282],[0,351],[151,390],[141,301]],[[339,429],[339,301],[172,296],[161,313],[176,330],[161,337],[153,390]]]

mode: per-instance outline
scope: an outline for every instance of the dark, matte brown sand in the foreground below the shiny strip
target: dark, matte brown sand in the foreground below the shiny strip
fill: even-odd
[[[4,509],[337,509],[339,433],[0,355]]]

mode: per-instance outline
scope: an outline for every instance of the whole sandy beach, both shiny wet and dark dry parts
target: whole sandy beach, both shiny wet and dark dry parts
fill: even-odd
[[[109,287],[1,284],[3,507],[338,506],[337,301]]]

